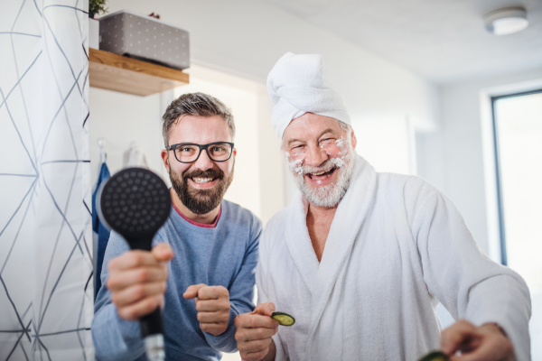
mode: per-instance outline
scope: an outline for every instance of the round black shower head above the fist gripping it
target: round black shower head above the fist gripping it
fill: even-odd
[[[171,204],[164,180],[143,168],[127,168],[100,187],[96,206],[106,227],[124,236],[132,249],[148,251]]]

